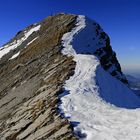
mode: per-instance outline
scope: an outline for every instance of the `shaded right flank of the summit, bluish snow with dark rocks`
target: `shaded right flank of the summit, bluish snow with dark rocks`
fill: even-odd
[[[82,22],[82,25],[79,26],[80,29],[77,27],[77,30],[79,30],[80,33],[78,34],[79,31],[75,30],[77,37],[73,37],[73,48],[76,52],[96,55],[99,58],[102,67],[106,71],[122,82],[127,83],[116,58],[116,54],[111,48],[108,35],[103,31],[98,23],[87,17],[80,22]],[[72,34],[74,34],[74,32],[72,32]],[[70,36],[68,35],[66,39],[69,39],[69,37]],[[77,41],[77,39],[80,40],[80,42]]]

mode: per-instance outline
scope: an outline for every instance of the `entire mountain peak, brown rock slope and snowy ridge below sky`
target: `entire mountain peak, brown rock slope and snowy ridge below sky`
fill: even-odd
[[[138,107],[108,35],[86,16],[50,16],[0,49],[2,140],[136,139]]]

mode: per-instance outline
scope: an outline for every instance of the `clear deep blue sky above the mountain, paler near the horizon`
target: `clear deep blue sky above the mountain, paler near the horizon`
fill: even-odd
[[[121,65],[140,70],[140,0],[0,0],[0,45],[58,12],[96,20],[109,34]]]

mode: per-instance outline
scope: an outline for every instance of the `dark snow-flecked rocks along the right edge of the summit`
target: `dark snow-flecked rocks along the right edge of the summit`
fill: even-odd
[[[105,45],[104,47],[97,49],[94,54],[99,58],[102,67],[106,71],[108,71],[112,76],[116,77],[123,83],[128,84],[125,75],[122,73],[121,66],[116,57],[116,53],[112,50],[108,35],[101,29],[99,24],[96,24],[95,26],[97,28],[97,36],[99,36],[101,40],[105,40]]]

